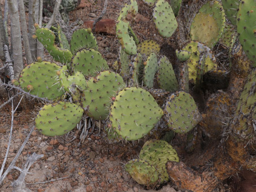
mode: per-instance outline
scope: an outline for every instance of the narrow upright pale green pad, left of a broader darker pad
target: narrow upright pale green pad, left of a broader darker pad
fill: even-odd
[[[147,88],[153,88],[154,86],[154,76],[155,73],[158,71],[158,62],[157,62],[157,55],[151,53],[147,58],[146,62],[144,63],[144,77],[143,81]]]

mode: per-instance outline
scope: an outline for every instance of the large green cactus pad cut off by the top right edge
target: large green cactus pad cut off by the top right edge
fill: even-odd
[[[237,33],[242,49],[256,67],[256,1],[245,0],[237,12]]]

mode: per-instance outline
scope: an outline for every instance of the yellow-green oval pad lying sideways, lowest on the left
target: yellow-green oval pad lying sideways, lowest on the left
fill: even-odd
[[[38,112],[36,128],[46,136],[62,136],[75,128],[83,112],[83,108],[74,103],[46,104]]]

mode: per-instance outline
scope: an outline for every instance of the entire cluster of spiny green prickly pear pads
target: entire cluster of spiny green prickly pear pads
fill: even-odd
[[[153,21],[160,36],[171,37],[177,28],[175,16],[179,14],[181,0],[173,0],[171,5],[164,0],[144,2],[154,6]],[[75,128],[85,114],[95,120],[107,120],[109,139],[141,139],[153,128],[157,129],[155,125],[160,120],[166,124],[166,130],[188,133],[202,119],[196,102],[186,93],[189,84],[201,85],[203,76],[217,69],[212,53],[217,42],[230,52],[236,41],[234,27],[225,25],[225,14],[237,25],[240,43],[255,67],[255,1],[222,2],[224,8],[219,1],[208,1],[199,9],[190,28],[192,41],[176,50],[177,63],[181,65],[179,80],[168,58],[160,55],[160,45],[153,40],[139,42],[133,32],[127,16],[136,16],[135,0],[122,8],[116,22],[120,50],[112,66],[115,72],[110,71],[99,53],[91,29],[76,30],[69,43],[59,26],[53,28],[54,33],[35,25],[34,38],[61,63],[38,60],[20,74],[19,85],[23,90],[52,101],[38,112],[37,129],[46,136],[60,136]],[[254,70],[241,94],[237,119],[232,122],[233,132],[240,139],[255,136],[256,132],[255,77]],[[171,92],[161,106],[147,90],[154,88]],[[150,140],[142,147],[140,157],[129,161],[125,169],[139,184],[155,186],[168,181],[165,168],[168,160],[179,162],[172,146],[165,141]]]

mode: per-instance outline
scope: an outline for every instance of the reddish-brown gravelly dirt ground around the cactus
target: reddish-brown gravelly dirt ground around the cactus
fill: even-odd
[[[2,1],[3,2],[3,1]],[[107,11],[103,19],[116,20],[125,3],[129,1],[109,0]],[[104,1],[81,1],[76,11],[70,14],[71,23],[76,21],[95,20],[102,12]],[[160,37],[152,21],[152,8],[138,1],[139,14],[132,27],[140,41],[151,39],[164,45],[168,40]],[[81,23],[81,22],[80,22]],[[84,27],[84,24],[80,27]],[[112,32],[111,32],[112,31]],[[109,66],[118,58],[119,43],[115,37],[115,28],[110,33],[95,34],[99,51],[107,60]],[[0,101],[0,105],[5,101]],[[21,111],[14,116],[14,132],[6,167],[19,150],[25,137],[34,125],[40,103],[26,101],[21,104]],[[2,165],[7,149],[8,137],[11,127],[11,105],[0,111],[0,165]],[[80,145],[79,131],[61,137],[45,137],[38,130],[34,130],[25,145],[16,166],[22,168],[27,156],[33,152],[43,154],[29,169],[30,174],[25,177],[25,185],[31,191],[57,192],[57,191],[149,191],[138,185],[124,170],[124,164],[137,158],[144,141],[132,145],[131,143],[110,144],[103,134],[103,130],[96,127],[89,130],[88,137]],[[12,169],[3,181],[1,192],[12,191],[11,182],[19,177],[20,172]],[[54,180],[54,181],[51,181]],[[160,192],[174,192],[171,182],[159,187]]]

